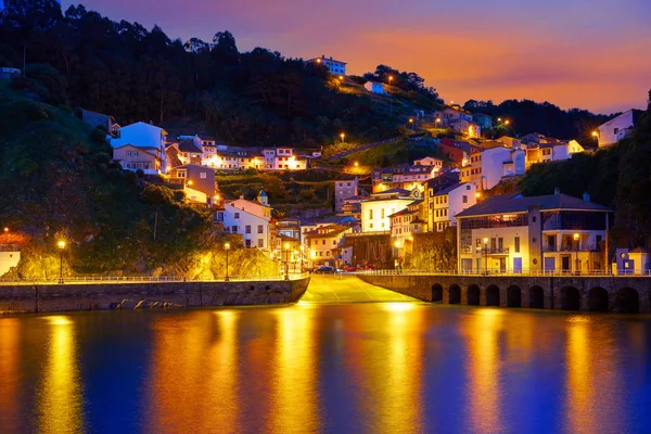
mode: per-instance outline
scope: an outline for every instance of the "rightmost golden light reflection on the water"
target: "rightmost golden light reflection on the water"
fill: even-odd
[[[624,391],[612,324],[577,316],[567,320],[566,330],[569,431],[618,432]]]

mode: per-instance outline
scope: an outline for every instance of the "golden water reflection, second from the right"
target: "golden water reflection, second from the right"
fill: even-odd
[[[480,308],[467,321],[465,341],[468,345],[467,387],[470,408],[468,411],[473,432],[499,433],[500,356],[499,333],[505,311],[497,308]]]

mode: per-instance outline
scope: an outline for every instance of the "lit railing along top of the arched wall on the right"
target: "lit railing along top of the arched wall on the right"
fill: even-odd
[[[607,270],[447,270],[447,271],[434,271],[434,270],[416,270],[416,269],[384,269],[384,270],[360,270],[352,271],[352,275],[371,275],[371,276],[477,276],[477,277],[565,277],[565,278],[592,278],[592,277],[608,277],[608,278],[650,278],[651,270],[646,272],[634,272],[634,270],[617,270],[616,273],[609,272]]]

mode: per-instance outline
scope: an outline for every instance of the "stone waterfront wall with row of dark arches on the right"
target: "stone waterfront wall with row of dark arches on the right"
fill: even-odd
[[[648,276],[519,276],[379,271],[366,283],[424,302],[580,311],[651,314]]]

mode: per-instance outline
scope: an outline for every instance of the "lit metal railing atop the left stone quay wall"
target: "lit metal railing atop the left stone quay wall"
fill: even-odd
[[[308,273],[289,275],[289,280],[299,280],[308,277]],[[229,282],[266,282],[266,281],[283,281],[284,275],[273,276],[229,276]],[[0,278],[0,285],[35,285],[35,284],[60,284],[60,278]],[[75,276],[64,277],[64,284],[133,284],[133,283],[192,283],[192,282],[226,282],[226,277],[214,279],[193,278],[188,279],[182,276]]]

